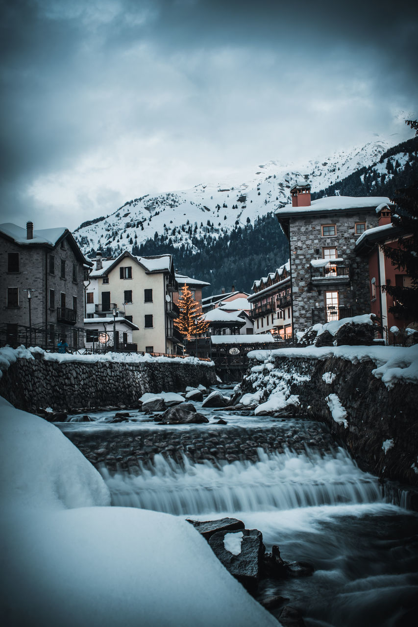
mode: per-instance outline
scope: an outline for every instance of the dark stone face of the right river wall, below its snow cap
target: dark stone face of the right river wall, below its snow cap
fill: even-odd
[[[244,379],[243,391],[254,392],[254,383],[268,396],[269,384],[286,381],[288,392],[299,397],[299,405],[288,406],[285,413],[327,423],[362,470],[418,486],[417,384],[398,382],[387,389],[373,376],[372,361],[352,364],[340,357],[275,357],[273,364],[264,366],[256,379],[251,374]],[[331,383],[324,381],[325,373],[334,375]],[[347,428],[333,419],[326,401],[329,394],[336,394],[346,410]],[[385,451],[383,443],[390,441]]]

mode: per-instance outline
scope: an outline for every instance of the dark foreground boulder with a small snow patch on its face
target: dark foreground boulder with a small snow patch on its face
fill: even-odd
[[[235,534],[242,534],[240,552],[237,555],[228,551],[224,544],[225,535]],[[212,535],[209,544],[227,571],[235,579],[238,579],[250,593],[255,592],[259,584],[260,566],[265,551],[261,532],[257,529],[221,531]]]

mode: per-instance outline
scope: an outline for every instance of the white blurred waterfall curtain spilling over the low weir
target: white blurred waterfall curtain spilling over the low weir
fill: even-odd
[[[316,505],[382,502],[377,479],[356,467],[342,448],[321,455],[267,454],[259,460],[213,465],[178,464],[163,455],[139,465],[139,474],[100,472],[112,494],[112,504],[141,507],[175,515],[213,512],[259,512]]]

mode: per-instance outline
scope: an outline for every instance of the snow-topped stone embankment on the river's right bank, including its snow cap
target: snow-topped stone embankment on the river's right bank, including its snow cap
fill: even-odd
[[[363,470],[418,486],[418,345],[254,350],[249,359],[241,390],[259,403],[255,413],[326,421]]]

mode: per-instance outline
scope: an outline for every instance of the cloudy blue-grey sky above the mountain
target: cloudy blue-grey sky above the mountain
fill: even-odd
[[[0,221],[74,229],[271,159],[412,137],[414,4],[3,1]]]

